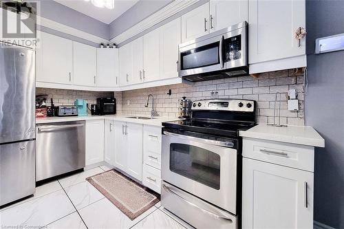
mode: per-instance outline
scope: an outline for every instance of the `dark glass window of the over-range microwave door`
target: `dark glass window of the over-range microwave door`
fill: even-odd
[[[182,70],[219,64],[219,42],[182,52]]]

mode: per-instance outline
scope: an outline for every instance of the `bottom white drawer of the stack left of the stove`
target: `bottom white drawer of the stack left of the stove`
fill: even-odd
[[[157,193],[161,193],[161,171],[147,164],[142,168],[142,183]]]

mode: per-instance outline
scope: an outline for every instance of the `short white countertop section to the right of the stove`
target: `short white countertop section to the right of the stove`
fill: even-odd
[[[257,124],[247,131],[240,131],[239,135],[247,138],[325,147],[325,140],[313,127],[272,127],[267,124]]]

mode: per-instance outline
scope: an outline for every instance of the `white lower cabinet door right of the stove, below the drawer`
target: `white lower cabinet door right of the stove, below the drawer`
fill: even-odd
[[[242,228],[313,228],[313,173],[244,158]]]

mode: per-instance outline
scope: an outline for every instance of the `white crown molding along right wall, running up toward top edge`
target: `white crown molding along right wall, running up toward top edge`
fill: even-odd
[[[116,45],[118,45],[123,41],[127,41],[127,39],[130,39],[131,37],[136,36],[141,32],[144,32],[144,30],[151,28],[153,25],[156,25],[161,21],[164,21],[165,19],[168,19],[169,17],[173,16],[173,14],[176,14],[181,10],[184,10],[185,8],[193,5],[197,1],[199,0],[175,0],[172,3],[169,3],[169,5],[159,10],[158,12],[151,14],[151,16],[140,21],[136,25],[133,25],[133,27],[129,28],[125,32],[122,32],[118,36],[114,37],[110,40],[110,43],[115,43]]]

